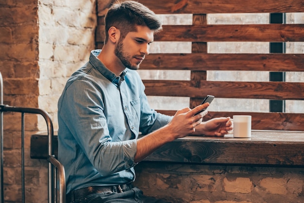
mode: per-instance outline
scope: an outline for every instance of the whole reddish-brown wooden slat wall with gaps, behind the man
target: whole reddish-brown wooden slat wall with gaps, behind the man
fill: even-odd
[[[190,97],[190,107],[206,94],[217,98],[304,100],[304,83],[206,81],[207,70],[304,71],[304,53],[214,54],[207,42],[304,42],[304,24],[207,25],[212,13],[304,12],[303,0],[138,0],[156,14],[193,14],[192,25],[164,25],[155,41],[192,42],[192,53],[150,54],[141,69],[191,70],[190,81],[144,80],[146,94]],[[103,19],[115,0],[98,0],[96,48],[104,39]],[[211,2],[211,3],[210,3]],[[172,34],[174,33],[174,34]],[[159,111],[173,115],[174,111]],[[304,114],[209,112],[207,118],[247,114],[253,129],[304,131]]]

